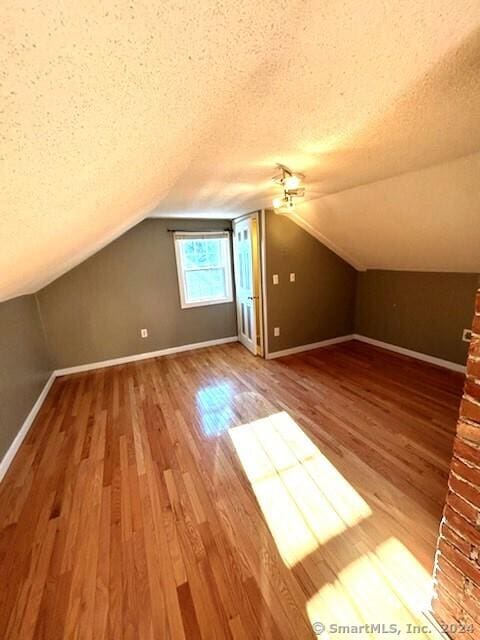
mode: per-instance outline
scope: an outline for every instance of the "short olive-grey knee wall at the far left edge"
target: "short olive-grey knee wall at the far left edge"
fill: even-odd
[[[51,374],[35,296],[0,304],[0,460]]]

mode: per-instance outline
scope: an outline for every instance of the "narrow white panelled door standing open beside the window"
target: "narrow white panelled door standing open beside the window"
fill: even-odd
[[[251,217],[233,222],[235,285],[237,289],[238,339],[257,354],[257,305],[253,264],[253,224]]]

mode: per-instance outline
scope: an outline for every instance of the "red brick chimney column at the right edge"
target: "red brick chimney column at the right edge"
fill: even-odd
[[[480,640],[480,289],[434,579],[436,619],[473,628],[452,637]]]

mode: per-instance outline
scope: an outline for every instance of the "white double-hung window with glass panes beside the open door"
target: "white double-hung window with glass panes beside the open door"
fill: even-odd
[[[175,233],[182,309],[232,302],[228,232]]]

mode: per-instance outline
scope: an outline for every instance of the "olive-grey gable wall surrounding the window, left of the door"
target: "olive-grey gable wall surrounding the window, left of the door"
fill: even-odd
[[[237,333],[235,305],[182,309],[167,229],[225,229],[225,220],[144,220],[37,295],[55,368]],[[140,330],[148,329],[148,338]]]

